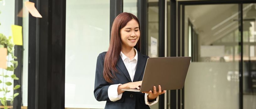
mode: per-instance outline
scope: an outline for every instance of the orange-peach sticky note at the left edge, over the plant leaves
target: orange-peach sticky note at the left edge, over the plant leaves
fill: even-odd
[[[7,69],[7,49],[0,48],[0,68]]]

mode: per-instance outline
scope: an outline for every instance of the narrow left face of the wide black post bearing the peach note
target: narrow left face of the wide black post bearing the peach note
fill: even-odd
[[[40,12],[39,1],[35,3]],[[28,64],[28,109],[38,109],[38,79],[39,79],[39,18],[29,14],[29,64]]]

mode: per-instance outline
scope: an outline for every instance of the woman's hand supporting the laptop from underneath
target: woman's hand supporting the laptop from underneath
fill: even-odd
[[[153,92],[150,90],[149,92],[142,92],[142,93],[148,93],[147,99],[153,100],[156,99],[158,95],[164,94],[166,90],[162,91],[161,86],[158,85],[158,91],[156,90],[156,86],[153,87]]]

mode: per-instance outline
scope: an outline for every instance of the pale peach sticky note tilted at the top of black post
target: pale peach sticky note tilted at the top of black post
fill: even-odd
[[[29,13],[32,16],[42,18],[41,14],[35,8],[35,3],[27,1],[25,2],[25,7],[29,10]]]

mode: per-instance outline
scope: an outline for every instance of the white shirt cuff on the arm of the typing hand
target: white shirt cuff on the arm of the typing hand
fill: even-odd
[[[109,100],[112,102],[115,102],[122,98],[123,93],[118,95],[118,92],[117,92],[117,88],[119,85],[122,85],[122,84],[113,84],[113,85],[110,85],[108,88]]]

